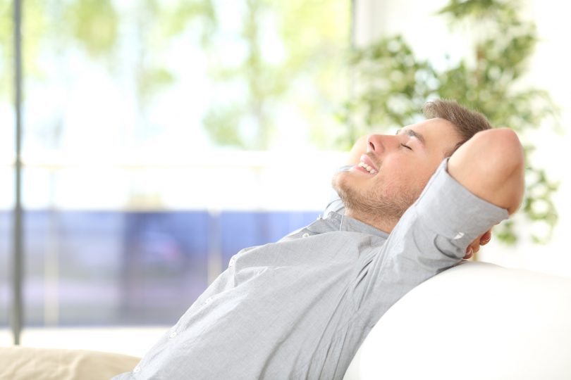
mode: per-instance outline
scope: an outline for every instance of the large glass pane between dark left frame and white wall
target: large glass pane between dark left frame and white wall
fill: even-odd
[[[344,133],[348,2],[25,7],[27,326],[172,324],[317,217],[329,178],[284,173]]]

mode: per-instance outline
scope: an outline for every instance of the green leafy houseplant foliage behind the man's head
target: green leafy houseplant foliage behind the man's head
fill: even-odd
[[[493,126],[510,127],[520,135],[527,158],[522,212],[541,224],[543,231],[532,239],[546,241],[558,220],[551,199],[558,185],[533,165],[529,132],[550,124],[557,127],[558,110],[546,91],[522,86],[537,42],[535,25],[522,20],[513,1],[451,0],[438,15],[449,20],[453,31],[469,30],[473,56],[456,61],[447,56],[446,68],[437,68],[417,58],[401,36],[355,49],[355,89],[344,114],[350,126],[348,140],[380,127],[394,130],[417,122],[423,104],[434,98],[456,99],[479,110]],[[494,234],[507,243],[517,241],[512,221],[498,226]]]

